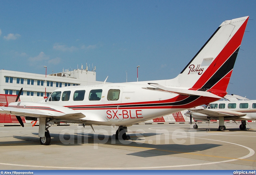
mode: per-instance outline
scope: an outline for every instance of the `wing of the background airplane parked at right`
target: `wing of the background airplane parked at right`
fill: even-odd
[[[228,111],[228,110],[198,109],[198,108],[192,108],[189,110],[192,111],[193,115],[195,115],[195,116],[196,116],[195,112],[198,112],[200,114],[205,114],[209,117],[237,117],[237,118],[239,118],[239,117],[246,116],[245,113],[236,112],[236,111]]]

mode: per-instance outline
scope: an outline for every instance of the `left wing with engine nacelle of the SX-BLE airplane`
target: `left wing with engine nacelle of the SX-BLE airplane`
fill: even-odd
[[[0,113],[35,118],[52,118],[76,123],[86,121],[107,122],[106,119],[97,114],[87,114],[63,106],[35,102],[10,103],[8,107],[0,107]]]

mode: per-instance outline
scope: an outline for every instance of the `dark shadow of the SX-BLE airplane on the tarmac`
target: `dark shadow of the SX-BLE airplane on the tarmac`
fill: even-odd
[[[38,135],[38,133],[32,133],[34,135]],[[165,140],[161,141],[161,144],[156,144],[156,141],[152,141],[152,143],[138,143],[134,141],[143,141],[145,137],[149,136],[157,136],[157,133],[135,133],[129,134],[132,140],[116,140],[115,135],[103,135],[103,134],[91,134],[91,133],[73,133],[73,134],[51,134],[51,145],[62,145],[62,146],[79,146],[83,144],[98,144],[98,145],[116,145],[125,147],[136,147],[141,148],[142,151],[131,153],[127,155],[139,156],[139,157],[155,157],[155,156],[163,156],[163,155],[174,155],[174,154],[182,154],[182,153],[193,153],[197,151],[207,150],[215,147],[222,146],[220,144],[189,144],[190,142],[186,142],[185,144],[175,144],[167,143],[165,144]],[[30,136],[13,136],[16,139],[21,141],[5,141],[0,142],[0,146],[19,146],[19,145],[40,145],[38,137],[30,137]],[[161,136],[161,138],[164,138]],[[148,142],[148,141],[147,141]],[[153,143],[154,142],[154,143]],[[163,142],[163,143],[162,143]],[[43,146],[43,145],[41,145]],[[44,146],[48,147],[48,146]],[[50,147],[50,146],[49,146]]]

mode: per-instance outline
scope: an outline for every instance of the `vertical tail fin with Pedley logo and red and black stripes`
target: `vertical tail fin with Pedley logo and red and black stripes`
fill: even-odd
[[[227,90],[249,16],[222,22],[178,75],[179,85],[193,90]]]

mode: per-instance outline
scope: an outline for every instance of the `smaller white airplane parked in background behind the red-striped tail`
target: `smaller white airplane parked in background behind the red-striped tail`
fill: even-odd
[[[194,118],[194,129],[198,129],[197,121],[219,120],[219,130],[226,130],[225,120],[241,121],[240,130],[246,130],[247,120],[256,120],[256,100],[238,95],[226,95],[228,101],[215,101],[203,107],[191,108],[185,113]]]

